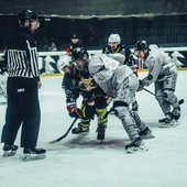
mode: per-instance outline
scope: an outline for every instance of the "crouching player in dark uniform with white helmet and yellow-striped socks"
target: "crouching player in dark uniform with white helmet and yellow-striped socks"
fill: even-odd
[[[74,57],[76,58],[77,56]],[[107,128],[108,118],[107,101],[103,91],[96,85],[91,85],[90,90],[84,87],[85,78],[88,79],[90,74],[87,69],[76,69],[75,65],[70,63],[69,56],[65,55],[58,61],[58,69],[64,73],[64,86],[66,94],[67,111],[72,118],[80,118],[78,127],[73,129],[74,134],[88,132],[90,120],[97,114],[98,128],[97,139],[102,141],[105,139],[105,131]],[[90,79],[91,81],[91,79]],[[76,100],[79,95],[82,96],[81,108],[77,108]]]

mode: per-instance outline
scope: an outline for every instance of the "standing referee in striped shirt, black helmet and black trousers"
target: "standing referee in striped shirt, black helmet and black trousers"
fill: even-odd
[[[21,147],[23,160],[45,158],[45,150],[36,148],[41,111],[38,91],[37,50],[33,33],[38,28],[37,15],[32,10],[23,10],[18,15],[20,30],[8,43],[6,62],[8,65],[8,107],[1,142],[4,143],[3,156],[16,153],[14,145],[18,131],[22,125]]]

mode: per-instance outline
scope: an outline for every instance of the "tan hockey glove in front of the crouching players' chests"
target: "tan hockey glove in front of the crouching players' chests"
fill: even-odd
[[[81,79],[79,81],[79,87],[81,90],[84,91],[90,91],[91,89],[97,88],[97,84],[94,81],[92,78],[88,78],[88,79]]]

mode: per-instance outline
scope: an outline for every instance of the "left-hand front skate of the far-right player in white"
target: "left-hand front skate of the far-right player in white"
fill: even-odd
[[[166,118],[161,119],[158,121],[160,128],[170,128],[170,127],[176,127],[176,120],[172,116],[172,113],[166,114]]]

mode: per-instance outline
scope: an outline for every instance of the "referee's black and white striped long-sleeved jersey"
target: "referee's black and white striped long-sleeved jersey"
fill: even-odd
[[[9,42],[6,62],[9,77],[36,78],[40,80],[36,42],[32,34],[19,31]]]

